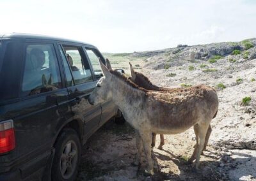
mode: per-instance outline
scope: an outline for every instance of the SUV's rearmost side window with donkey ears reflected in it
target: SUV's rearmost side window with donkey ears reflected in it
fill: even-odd
[[[52,44],[33,43],[26,45],[26,60],[22,78],[22,96],[62,88],[60,69]]]

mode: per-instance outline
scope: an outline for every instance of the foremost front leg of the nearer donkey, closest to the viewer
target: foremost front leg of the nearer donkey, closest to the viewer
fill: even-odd
[[[143,142],[144,152],[147,157],[147,170],[145,170],[146,175],[154,175],[153,170],[153,161],[151,157],[151,149],[150,149],[150,140],[151,140],[151,133],[141,133],[141,140]]]

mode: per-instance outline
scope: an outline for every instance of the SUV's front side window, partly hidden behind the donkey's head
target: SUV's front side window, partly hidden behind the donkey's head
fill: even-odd
[[[99,52],[93,48],[85,48],[85,50],[92,64],[94,75],[100,78],[103,75],[99,64],[99,59],[101,59]]]

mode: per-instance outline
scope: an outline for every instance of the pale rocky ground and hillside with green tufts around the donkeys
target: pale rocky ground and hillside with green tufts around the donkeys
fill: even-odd
[[[109,55],[113,67],[129,72],[131,61],[136,71],[162,87],[215,87],[218,115],[198,173],[186,164],[195,144],[193,129],[166,135],[163,150],[153,150],[156,175],[144,177],[145,163],[130,166],[136,154],[132,128],[109,122],[84,147],[77,180],[256,180],[255,47],[256,39],[250,39]]]

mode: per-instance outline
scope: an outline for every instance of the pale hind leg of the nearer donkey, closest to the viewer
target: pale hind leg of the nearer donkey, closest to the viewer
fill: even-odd
[[[196,152],[196,161],[195,161],[195,168],[198,169],[200,155],[202,154],[202,150],[204,148],[205,143],[205,136],[209,127],[209,122],[199,122],[198,123],[198,136],[199,136],[199,144],[197,145],[197,152]]]

